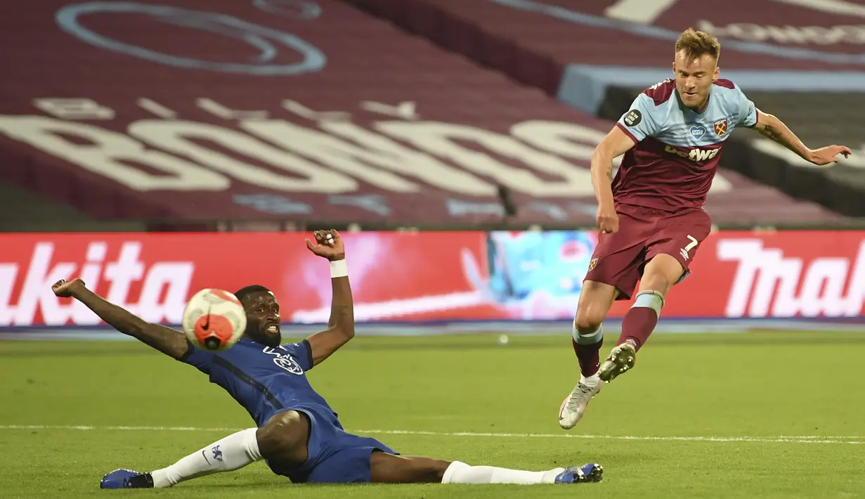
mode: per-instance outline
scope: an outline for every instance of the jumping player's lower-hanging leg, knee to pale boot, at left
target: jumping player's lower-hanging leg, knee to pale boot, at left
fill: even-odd
[[[588,280],[583,283],[571,333],[573,351],[580,362],[580,381],[559,407],[559,425],[565,430],[580,422],[589,400],[600,391],[599,350],[604,344],[601,323],[617,295],[612,285]]]

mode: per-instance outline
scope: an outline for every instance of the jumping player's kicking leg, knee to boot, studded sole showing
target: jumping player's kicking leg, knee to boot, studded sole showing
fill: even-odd
[[[649,339],[663,307],[663,297],[682,277],[684,268],[675,257],[658,254],[646,264],[637,297],[622,321],[622,334],[599,370],[602,381],[609,383],[634,367],[637,352]]]

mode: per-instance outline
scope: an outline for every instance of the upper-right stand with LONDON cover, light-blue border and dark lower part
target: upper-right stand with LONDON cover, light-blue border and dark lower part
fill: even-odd
[[[846,144],[831,169],[767,154],[739,132],[721,167],[833,211],[865,216],[865,5],[727,0],[345,0],[440,47],[465,54],[586,112],[615,119],[635,95],[669,78],[672,43],[689,26],[721,38],[721,75],[779,115],[806,144]],[[860,2],[861,3],[861,2]],[[857,20],[857,21],[853,21]],[[764,140],[766,139],[758,139]],[[777,149],[777,148],[776,148]],[[734,157],[731,160],[731,157]],[[772,203],[772,202],[770,202]]]

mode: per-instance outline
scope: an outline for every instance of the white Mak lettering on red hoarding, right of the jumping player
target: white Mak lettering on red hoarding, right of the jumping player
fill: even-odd
[[[854,261],[786,257],[759,239],[721,240],[718,259],[736,261],[727,317],[855,317],[865,303],[865,240]]]

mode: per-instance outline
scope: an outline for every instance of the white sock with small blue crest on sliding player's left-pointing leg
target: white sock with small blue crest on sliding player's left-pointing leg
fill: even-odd
[[[168,468],[151,473],[153,486],[170,487],[190,478],[203,477],[221,471],[231,471],[253,464],[261,459],[257,428],[249,428],[228,435],[202,450],[183,457]]]

